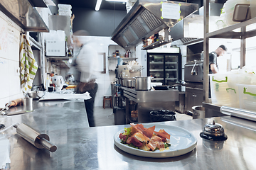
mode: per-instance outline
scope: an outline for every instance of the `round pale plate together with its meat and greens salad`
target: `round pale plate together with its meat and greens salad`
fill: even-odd
[[[197,144],[191,132],[178,126],[159,123],[130,125],[114,134],[114,145],[116,149],[139,157],[177,157],[193,151]]]

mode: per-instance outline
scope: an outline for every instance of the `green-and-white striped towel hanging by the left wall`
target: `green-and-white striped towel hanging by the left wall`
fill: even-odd
[[[26,38],[26,34],[21,35],[20,62],[21,90],[26,94],[28,91],[31,91],[33,80],[38,69],[38,64],[33,56],[33,51]]]

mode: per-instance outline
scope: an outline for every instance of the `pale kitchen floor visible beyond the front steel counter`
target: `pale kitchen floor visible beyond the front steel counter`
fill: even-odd
[[[95,125],[107,126],[114,125],[114,114],[112,108],[95,107],[94,111]],[[176,112],[176,120],[189,120],[192,116]]]

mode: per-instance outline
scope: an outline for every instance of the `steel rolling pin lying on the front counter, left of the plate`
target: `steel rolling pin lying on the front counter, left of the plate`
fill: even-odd
[[[14,125],[14,128],[16,128],[18,135],[23,137],[26,141],[30,142],[38,149],[46,148],[50,152],[55,152],[57,150],[57,146],[50,143],[50,137],[48,135],[41,134],[23,123]]]

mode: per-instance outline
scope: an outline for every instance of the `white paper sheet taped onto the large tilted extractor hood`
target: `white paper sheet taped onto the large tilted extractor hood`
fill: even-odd
[[[180,8],[178,4],[170,4],[170,3],[163,3],[161,5],[161,16],[166,19],[176,19],[180,18]]]

